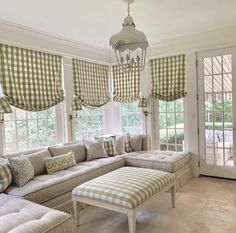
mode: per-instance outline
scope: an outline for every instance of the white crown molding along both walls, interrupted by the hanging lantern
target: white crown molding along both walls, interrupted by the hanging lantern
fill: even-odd
[[[111,49],[73,41],[2,19],[0,19],[0,31],[0,43],[37,49],[68,58],[74,57],[88,61],[99,61],[104,64],[116,64],[116,58]],[[236,46],[236,26],[160,40],[148,48],[147,60],[178,53],[200,52],[233,46]]]

